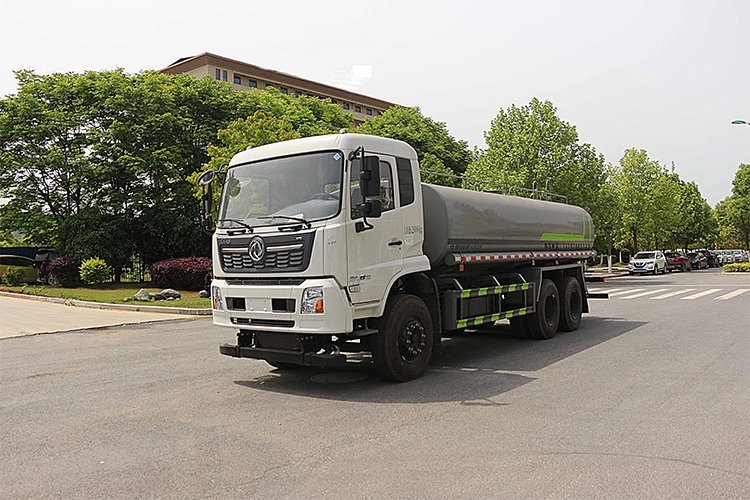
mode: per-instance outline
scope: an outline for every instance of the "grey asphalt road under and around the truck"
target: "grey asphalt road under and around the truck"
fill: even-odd
[[[750,497],[750,276],[594,288],[579,331],[454,337],[406,384],[208,320],[2,340],[0,495]]]

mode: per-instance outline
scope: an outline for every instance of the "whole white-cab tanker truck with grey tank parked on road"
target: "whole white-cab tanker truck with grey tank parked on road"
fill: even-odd
[[[213,227],[211,183],[199,179]],[[223,175],[213,234],[221,354],[279,369],[369,353],[422,375],[445,333],[509,319],[533,338],[578,328],[594,227],[575,206],[420,181],[416,152],[341,133],[251,148]]]

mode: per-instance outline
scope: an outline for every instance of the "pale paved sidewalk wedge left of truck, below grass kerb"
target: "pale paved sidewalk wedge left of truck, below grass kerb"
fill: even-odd
[[[200,318],[200,316],[88,309],[37,300],[0,297],[0,339],[86,328],[197,318]]]

